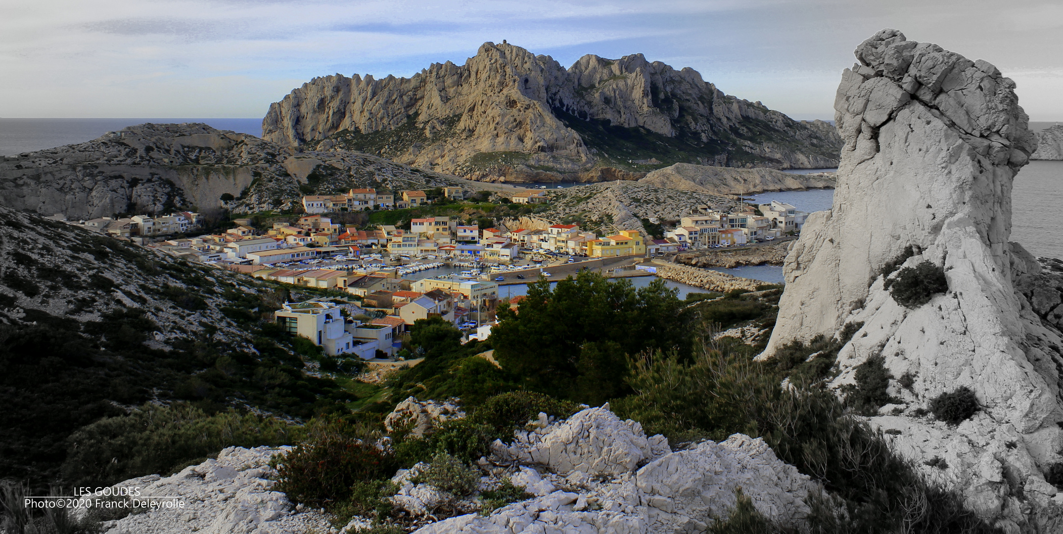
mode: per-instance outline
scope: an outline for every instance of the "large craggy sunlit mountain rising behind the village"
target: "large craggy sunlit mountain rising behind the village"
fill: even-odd
[[[593,182],[677,161],[834,167],[841,145],[829,124],[726,96],[690,68],[635,54],[586,55],[566,69],[505,41],[409,79],[314,79],[270,106],[263,133],[289,147],[525,182]]]

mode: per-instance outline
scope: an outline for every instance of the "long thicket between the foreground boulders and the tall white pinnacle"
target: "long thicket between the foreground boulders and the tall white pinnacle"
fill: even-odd
[[[615,406],[670,441],[698,432],[714,440],[735,432],[762,437],[779,460],[829,492],[810,502],[810,532],[992,532],[960,495],[930,485],[832,392],[782,391],[773,368],[778,362],[712,348],[690,362],[655,357],[634,365],[636,394]],[[912,509],[913,499],[926,505]]]

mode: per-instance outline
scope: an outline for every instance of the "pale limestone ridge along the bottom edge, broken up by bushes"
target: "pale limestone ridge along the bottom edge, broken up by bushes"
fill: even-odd
[[[476,512],[476,502],[467,499],[458,506],[470,506],[471,513],[434,521],[432,511],[455,498],[429,484],[414,483],[423,468],[418,464],[392,478],[399,490],[391,502],[428,523],[416,531],[420,534],[663,534],[704,530],[710,517],[726,519],[739,487],[766,517],[794,526],[808,513],[809,494],[821,490],[809,477],[780,462],[762,440],[743,434],[672,451],[663,436],[646,436],[638,423],[620,419],[608,404],[585,409],[564,420],[547,420],[542,414],[532,427],[518,431],[510,445],[496,441],[478,465],[484,472],[482,488],[508,479],[533,498],[486,516]],[[116,484],[140,486],[147,496],[181,496],[186,509],[131,515],[106,523],[105,532],[330,531],[325,516],[292,506],[284,494],[271,490],[275,471],[268,461],[286,450],[234,447],[223,450],[216,461],[171,477],[153,475]],[[370,524],[367,518],[355,517],[339,532],[354,533]]]

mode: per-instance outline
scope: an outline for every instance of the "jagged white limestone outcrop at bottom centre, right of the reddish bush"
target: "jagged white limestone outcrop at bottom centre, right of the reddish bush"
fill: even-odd
[[[416,532],[702,531],[711,517],[729,516],[739,487],[759,512],[792,527],[808,513],[808,495],[820,490],[760,438],[735,434],[672,452],[663,436],[647,437],[638,423],[621,420],[608,404],[518,432],[512,445],[495,442],[493,449],[492,462],[517,462],[499,476],[508,476],[536,498],[486,517],[466,514]]]

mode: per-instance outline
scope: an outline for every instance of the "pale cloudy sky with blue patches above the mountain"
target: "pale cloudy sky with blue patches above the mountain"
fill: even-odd
[[[485,41],[643,53],[799,120],[832,119],[882,28],[983,58],[1063,121],[1063,1],[3,0],[0,117],[247,117],[315,76],[410,76]]]

